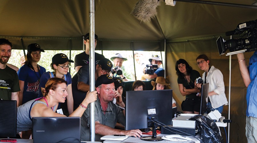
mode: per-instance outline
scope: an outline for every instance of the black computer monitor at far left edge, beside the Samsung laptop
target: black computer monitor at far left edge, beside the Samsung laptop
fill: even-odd
[[[0,99],[0,138],[16,137],[17,101]]]

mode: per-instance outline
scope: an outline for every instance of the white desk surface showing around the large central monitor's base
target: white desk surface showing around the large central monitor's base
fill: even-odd
[[[159,134],[158,136],[165,136],[164,134]],[[188,136],[189,137],[189,136]],[[197,137],[197,136],[196,136]],[[192,138],[192,137],[189,137],[189,138]],[[193,140],[197,141],[196,138],[192,138]],[[134,138],[134,137],[128,137],[126,140],[123,140],[123,141],[114,141],[114,140],[105,140],[103,143],[116,143],[116,142],[120,142],[120,143],[151,143],[149,141],[144,141],[144,140],[141,140],[140,138]],[[172,142],[172,141],[168,141],[168,140],[162,140],[162,141],[158,141],[158,143],[162,143],[162,142],[166,142],[166,143],[175,143],[175,142]],[[183,143],[189,143],[189,142],[192,142],[192,141],[188,141],[188,142],[183,142]],[[181,142],[180,142],[181,143]]]

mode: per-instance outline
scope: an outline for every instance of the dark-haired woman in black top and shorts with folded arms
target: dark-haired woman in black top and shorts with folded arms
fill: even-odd
[[[179,59],[176,62],[175,69],[178,76],[179,91],[182,96],[186,96],[186,100],[181,104],[183,113],[199,114],[201,98],[198,93],[200,90],[194,86],[194,81],[200,77],[200,73],[193,70],[184,59]]]

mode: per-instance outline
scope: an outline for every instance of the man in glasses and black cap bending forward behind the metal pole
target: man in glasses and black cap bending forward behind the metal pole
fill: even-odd
[[[103,75],[110,74],[111,68],[113,67],[112,62],[107,59],[101,59],[95,67],[95,80]],[[72,94],[74,100],[74,109],[79,107],[79,104],[85,98],[89,91],[89,65],[83,65],[77,74],[72,78]]]

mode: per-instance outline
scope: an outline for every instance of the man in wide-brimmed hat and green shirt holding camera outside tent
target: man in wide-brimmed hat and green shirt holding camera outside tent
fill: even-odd
[[[122,81],[131,81],[130,72],[122,65],[124,61],[128,59],[123,57],[120,53],[116,53],[113,57],[111,57],[113,61],[113,71],[110,75],[116,78],[120,78]],[[119,71],[118,71],[119,70]]]

